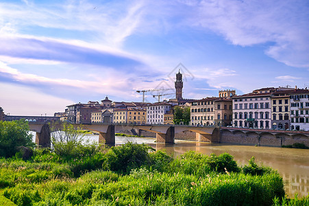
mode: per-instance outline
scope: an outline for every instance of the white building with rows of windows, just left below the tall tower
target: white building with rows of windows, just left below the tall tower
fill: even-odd
[[[147,106],[147,124],[164,124],[164,115],[170,113],[172,105],[157,102]]]

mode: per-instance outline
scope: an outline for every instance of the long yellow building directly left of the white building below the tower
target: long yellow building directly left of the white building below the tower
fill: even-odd
[[[145,108],[114,109],[114,123],[118,124],[146,124]]]

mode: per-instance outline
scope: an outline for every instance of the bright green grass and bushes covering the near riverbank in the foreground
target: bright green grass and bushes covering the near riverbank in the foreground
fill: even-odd
[[[132,143],[75,159],[62,159],[50,150],[35,155],[31,161],[0,159],[0,201],[10,199],[16,205],[285,203],[280,174],[257,165],[254,158],[239,167],[227,153],[208,156],[191,151],[172,158]]]

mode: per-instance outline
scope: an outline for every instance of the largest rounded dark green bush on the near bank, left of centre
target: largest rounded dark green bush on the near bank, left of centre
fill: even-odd
[[[114,146],[103,157],[103,169],[129,174],[130,170],[150,163],[148,150],[151,149],[145,144],[132,142]]]

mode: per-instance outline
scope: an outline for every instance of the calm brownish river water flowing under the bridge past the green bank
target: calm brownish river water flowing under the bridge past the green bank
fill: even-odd
[[[88,139],[98,141],[99,135],[88,135]],[[201,152],[205,155],[214,153],[220,155],[227,152],[234,157],[238,165],[245,165],[251,157],[256,163],[270,166],[277,170],[285,183],[286,194],[293,198],[307,196],[309,192],[309,150],[293,148],[240,146],[234,144],[210,144],[206,142],[175,140],[173,145],[156,144],[156,138],[151,137],[116,137],[116,145],[132,141],[137,144],[148,144],[156,150],[165,150],[175,157],[189,150]]]

